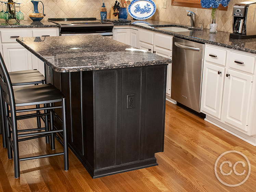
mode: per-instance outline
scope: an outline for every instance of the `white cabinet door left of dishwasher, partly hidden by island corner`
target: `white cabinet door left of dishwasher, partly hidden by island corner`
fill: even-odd
[[[154,46],[154,53],[171,59],[171,51]],[[171,95],[171,63],[167,67],[166,94]]]

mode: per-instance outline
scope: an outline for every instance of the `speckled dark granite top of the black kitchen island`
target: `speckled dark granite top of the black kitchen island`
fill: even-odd
[[[23,37],[16,41],[57,72],[171,63],[170,59],[101,35]]]

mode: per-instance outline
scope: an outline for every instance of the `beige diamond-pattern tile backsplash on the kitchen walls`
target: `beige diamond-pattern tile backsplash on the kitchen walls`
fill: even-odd
[[[220,31],[232,32],[232,9],[233,5],[243,0],[230,0],[228,11],[217,12],[217,26]],[[21,11],[24,13],[25,20],[29,20],[29,13],[33,12],[33,4],[30,0],[18,0],[22,2]],[[102,0],[42,0],[44,4],[43,18],[47,20],[52,17],[96,17],[100,18],[100,7]],[[190,25],[190,18],[186,10],[196,13],[196,23],[204,23],[205,28],[209,28],[211,22],[211,10],[172,6],[171,0],[167,0],[167,9],[162,8],[163,0],[154,0],[156,12],[151,17],[154,20],[167,21],[171,23]],[[114,5],[115,0],[104,0],[107,12]],[[38,10],[43,12],[42,4],[39,2]],[[128,14],[128,18],[131,18]]]

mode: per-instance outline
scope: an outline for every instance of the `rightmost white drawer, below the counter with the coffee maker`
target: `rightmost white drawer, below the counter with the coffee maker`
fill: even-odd
[[[229,67],[248,73],[254,72],[255,57],[230,51]]]

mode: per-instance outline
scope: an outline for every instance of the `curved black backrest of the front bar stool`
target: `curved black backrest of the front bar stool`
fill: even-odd
[[[15,112],[16,111],[15,99],[14,99],[14,93],[12,88],[12,82],[1,53],[0,53],[0,86],[3,89],[3,91],[9,95],[11,111]]]

